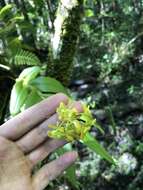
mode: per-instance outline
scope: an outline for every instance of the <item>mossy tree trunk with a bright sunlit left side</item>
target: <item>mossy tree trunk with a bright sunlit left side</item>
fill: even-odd
[[[54,22],[55,32],[51,40],[51,63],[47,66],[47,74],[55,76],[68,86],[73,59],[80,36],[80,23],[83,13],[83,0],[60,0],[57,17]],[[49,67],[53,66],[53,70]]]

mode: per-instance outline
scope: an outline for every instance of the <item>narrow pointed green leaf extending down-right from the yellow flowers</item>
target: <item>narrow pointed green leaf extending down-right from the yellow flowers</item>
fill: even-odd
[[[112,164],[115,164],[114,159],[109,155],[109,153],[98,143],[98,141],[87,133],[83,139],[83,144],[89,147],[91,150],[99,154],[102,158],[106,159]]]

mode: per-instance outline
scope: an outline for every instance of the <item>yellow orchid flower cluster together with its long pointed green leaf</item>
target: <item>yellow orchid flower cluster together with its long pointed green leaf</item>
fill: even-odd
[[[49,137],[67,142],[80,141],[102,158],[115,164],[115,160],[110,154],[89,133],[92,126],[96,126],[102,134],[104,131],[93,118],[88,106],[83,104],[83,112],[79,113],[75,108],[61,103],[57,108],[57,114],[59,120],[55,125],[49,126],[51,128],[48,132]]]

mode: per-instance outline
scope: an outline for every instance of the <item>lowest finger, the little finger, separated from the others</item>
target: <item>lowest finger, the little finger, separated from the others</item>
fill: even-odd
[[[58,177],[67,167],[73,164],[76,159],[76,152],[68,152],[57,160],[45,165],[33,178],[33,186],[35,189],[43,190],[51,180]]]

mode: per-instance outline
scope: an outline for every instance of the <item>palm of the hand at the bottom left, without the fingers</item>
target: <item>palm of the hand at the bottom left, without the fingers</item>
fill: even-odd
[[[0,137],[0,145],[1,189],[35,190],[30,162],[24,153],[15,143],[2,137]]]

